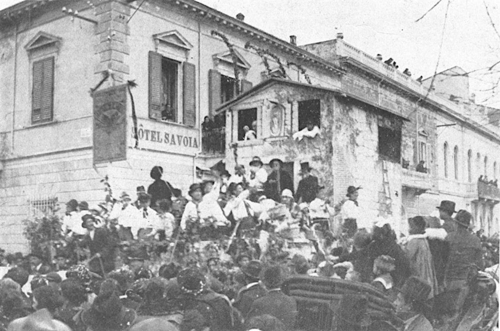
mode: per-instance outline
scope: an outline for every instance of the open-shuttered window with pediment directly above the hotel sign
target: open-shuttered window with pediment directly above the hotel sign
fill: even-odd
[[[182,77],[179,69],[182,68]],[[149,52],[149,117],[194,126],[195,66]],[[182,79],[182,108],[179,107],[179,79]]]

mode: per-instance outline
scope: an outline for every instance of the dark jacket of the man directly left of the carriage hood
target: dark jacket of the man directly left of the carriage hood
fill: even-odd
[[[280,290],[272,290],[252,302],[246,319],[263,314],[276,317],[287,330],[291,330],[295,326],[297,317],[297,302]]]

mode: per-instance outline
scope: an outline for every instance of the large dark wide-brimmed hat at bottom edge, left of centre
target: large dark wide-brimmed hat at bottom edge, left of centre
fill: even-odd
[[[90,309],[81,313],[83,324],[92,329],[125,329],[136,317],[135,311],[124,308],[113,292],[97,295]]]

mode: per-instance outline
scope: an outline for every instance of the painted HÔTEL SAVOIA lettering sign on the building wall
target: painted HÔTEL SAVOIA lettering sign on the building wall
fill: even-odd
[[[200,148],[198,129],[168,122],[137,119],[137,138],[139,149],[194,155]],[[133,130],[130,144],[135,144]]]

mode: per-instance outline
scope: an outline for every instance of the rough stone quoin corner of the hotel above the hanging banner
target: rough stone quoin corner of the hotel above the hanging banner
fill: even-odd
[[[130,7],[115,1],[101,3],[96,7],[97,26],[95,35],[97,41],[95,54],[100,62],[94,67],[94,74],[109,70],[116,82],[123,82],[124,75],[129,73],[125,64],[125,55],[130,53],[127,44],[129,35],[127,20],[130,17]]]

